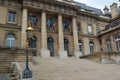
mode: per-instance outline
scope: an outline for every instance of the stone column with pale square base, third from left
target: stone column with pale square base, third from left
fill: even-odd
[[[67,51],[64,50],[64,35],[62,26],[62,15],[58,14],[58,56],[60,58],[67,58]]]

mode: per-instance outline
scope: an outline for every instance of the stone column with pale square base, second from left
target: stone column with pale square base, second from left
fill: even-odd
[[[46,12],[41,13],[41,57],[50,57],[50,51],[47,49],[47,28],[46,28]]]

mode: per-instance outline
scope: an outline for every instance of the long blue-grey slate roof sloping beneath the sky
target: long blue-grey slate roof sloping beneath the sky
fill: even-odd
[[[74,2],[76,6],[90,12],[95,12],[98,15],[104,15],[101,9],[97,9],[94,7],[87,6],[86,4],[80,3],[80,2]]]

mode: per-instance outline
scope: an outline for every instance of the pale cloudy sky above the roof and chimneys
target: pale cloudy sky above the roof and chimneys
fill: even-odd
[[[120,6],[119,0],[74,0],[74,1],[85,3],[88,6],[96,7],[96,8],[102,9],[102,10],[105,5],[107,5],[107,7],[110,7],[110,5],[113,2],[117,3],[118,6]]]

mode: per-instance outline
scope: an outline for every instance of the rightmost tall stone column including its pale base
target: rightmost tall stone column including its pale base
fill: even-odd
[[[79,58],[82,56],[82,53],[79,51],[78,46],[78,34],[77,34],[77,25],[76,17],[72,18],[72,27],[73,27],[73,44],[74,44],[74,56]]]

